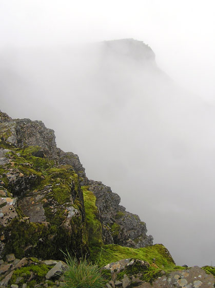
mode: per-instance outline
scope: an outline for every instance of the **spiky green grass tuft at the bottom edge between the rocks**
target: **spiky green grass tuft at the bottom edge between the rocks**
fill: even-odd
[[[103,278],[99,266],[88,263],[86,256],[81,259],[72,258],[65,254],[68,265],[62,284],[65,288],[102,288],[107,280]]]

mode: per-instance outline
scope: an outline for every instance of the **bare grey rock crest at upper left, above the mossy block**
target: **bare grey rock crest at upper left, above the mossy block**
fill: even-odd
[[[86,179],[85,169],[80,163],[79,156],[57,148],[54,131],[46,128],[42,121],[11,119],[6,113],[0,113],[2,140],[19,148],[39,146],[41,149],[33,152],[33,156],[47,157],[54,160],[57,165],[71,165],[75,172],[83,178],[82,181]]]

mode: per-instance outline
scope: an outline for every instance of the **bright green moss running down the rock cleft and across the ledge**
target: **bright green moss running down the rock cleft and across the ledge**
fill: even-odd
[[[84,194],[84,204],[86,211],[86,223],[88,231],[88,240],[90,246],[90,260],[92,263],[97,263],[104,266],[111,262],[116,262],[125,258],[140,259],[149,262],[149,267],[139,267],[138,264],[131,265],[125,271],[118,274],[117,278],[122,279],[124,274],[132,275],[142,273],[141,280],[152,282],[154,279],[162,276],[161,271],[166,273],[173,271],[175,264],[171,258],[169,251],[161,244],[145,247],[145,248],[128,248],[120,245],[103,245],[101,224],[97,219],[97,207],[95,205],[95,196],[88,191],[88,187],[82,187]],[[116,214],[116,219],[124,216],[123,212]],[[145,225],[145,223],[143,223]],[[120,231],[120,225],[113,223],[111,232],[113,238],[116,238]],[[102,247],[101,247],[102,246]],[[154,260],[155,259],[155,260]],[[111,272],[108,269],[102,270],[102,275],[108,281],[111,279]]]

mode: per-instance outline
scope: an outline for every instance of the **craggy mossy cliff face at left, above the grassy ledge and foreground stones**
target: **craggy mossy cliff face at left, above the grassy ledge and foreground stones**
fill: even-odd
[[[110,187],[90,181],[77,155],[56,147],[53,130],[2,112],[0,121],[1,258],[60,259],[59,248],[79,255],[105,244],[152,245],[146,224],[119,205]]]

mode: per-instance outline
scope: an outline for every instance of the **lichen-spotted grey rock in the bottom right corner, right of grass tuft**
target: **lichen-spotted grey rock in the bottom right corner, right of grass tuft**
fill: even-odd
[[[123,259],[107,264],[102,274],[109,280],[107,288],[212,288],[214,276],[203,267],[193,266],[181,269],[159,269],[155,264],[138,259]],[[215,268],[214,268],[215,272]]]

